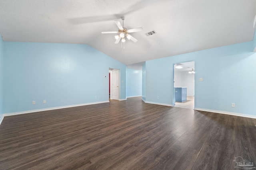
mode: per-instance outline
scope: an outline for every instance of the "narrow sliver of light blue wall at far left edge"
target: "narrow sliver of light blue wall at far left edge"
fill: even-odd
[[[4,89],[3,89],[3,60],[4,60],[4,43],[0,34],[0,117],[4,112]]]

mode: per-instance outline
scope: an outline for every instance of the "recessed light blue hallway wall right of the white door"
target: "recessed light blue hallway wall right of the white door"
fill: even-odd
[[[142,96],[142,70],[126,68],[126,96]]]

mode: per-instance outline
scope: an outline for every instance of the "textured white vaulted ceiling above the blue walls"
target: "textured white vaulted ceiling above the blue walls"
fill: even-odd
[[[88,44],[124,64],[252,41],[256,0],[0,0],[4,41]],[[125,16],[137,43],[114,44]],[[157,33],[146,36],[155,30]]]

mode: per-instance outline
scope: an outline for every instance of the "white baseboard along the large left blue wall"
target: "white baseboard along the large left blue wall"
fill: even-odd
[[[69,106],[60,106],[60,107],[49,107],[45,109],[36,109],[36,110],[27,110],[27,111],[18,111],[18,112],[13,112],[13,113],[4,113],[4,116],[12,116],[12,115],[21,115],[21,114],[26,114],[26,113],[34,113],[34,112],[39,112],[39,111],[48,111],[48,110],[55,110],[55,109],[64,109],[68,107],[77,107],[77,106],[86,106],[86,105],[91,105],[91,104],[101,104],[101,103],[107,103],[107,101],[102,101],[102,102],[92,102],[92,103],[85,103],[85,104],[74,104],[74,105],[69,105]]]

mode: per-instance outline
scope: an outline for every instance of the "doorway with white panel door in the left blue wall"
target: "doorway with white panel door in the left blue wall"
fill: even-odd
[[[109,68],[109,99],[119,100],[119,69]]]

